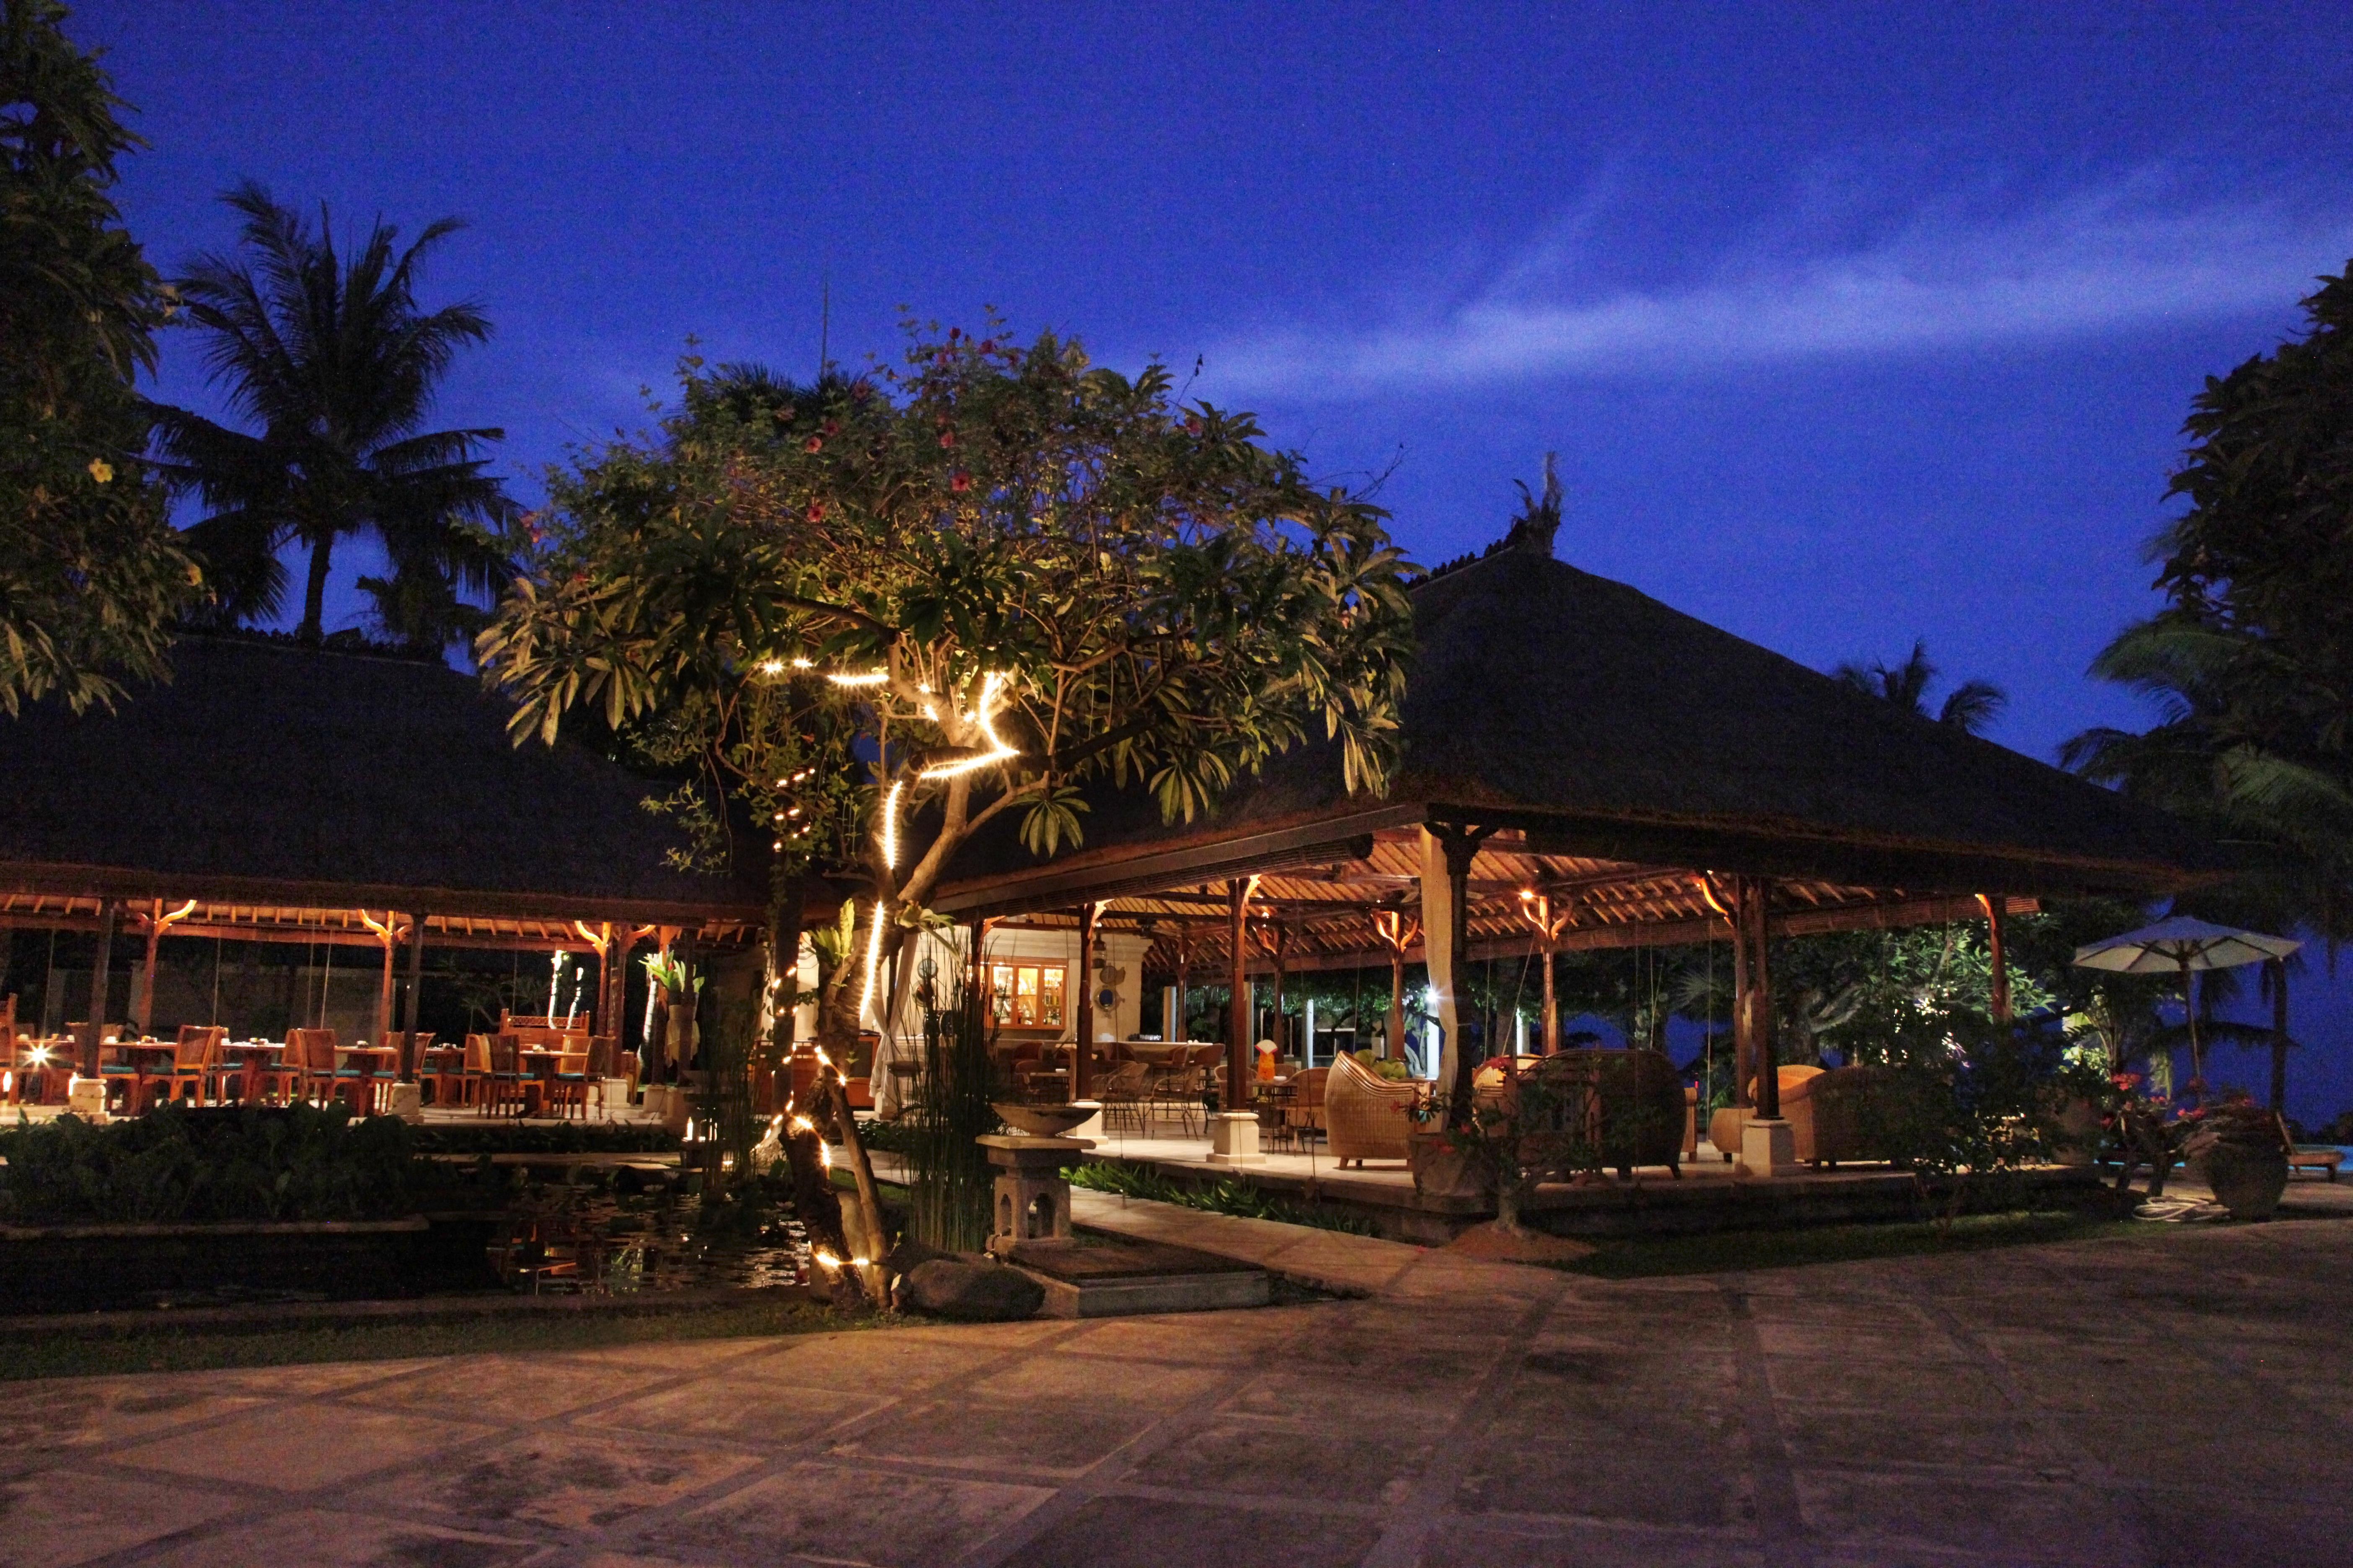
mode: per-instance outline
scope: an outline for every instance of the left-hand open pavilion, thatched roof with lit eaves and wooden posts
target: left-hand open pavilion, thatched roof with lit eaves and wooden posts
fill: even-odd
[[[642,809],[659,785],[569,741],[515,748],[506,715],[438,661],[181,637],[172,682],[115,712],[0,729],[0,926],[99,933],[92,1025],[113,938],[146,936],[141,1030],[165,936],[372,950],[379,1032],[412,1027],[428,943],[593,954],[612,1032],[640,943],[760,938],[758,870],[678,870]]]

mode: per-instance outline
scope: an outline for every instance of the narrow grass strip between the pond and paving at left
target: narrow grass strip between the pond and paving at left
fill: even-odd
[[[873,1319],[805,1298],[720,1302],[682,1312],[562,1312],[546,1316],[376,1319],[289,1328],[158,1326],[118,1335],[87,1328],[0,1338],[0,1380],[104,1373],[198,1373],[231,1366],[400,1361],[482,1352],[562,1352],[744,1335],[828,1333]]]

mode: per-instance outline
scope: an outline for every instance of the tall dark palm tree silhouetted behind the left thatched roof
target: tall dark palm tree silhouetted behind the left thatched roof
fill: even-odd
[[[513,503],[480,456],[504,430],[421,430],[459,348],[489,336],[473,303],[426,313],[414,282],[426,252],[461,228],[428,223],[395,254],[381,219],[348,259],[325,207],[313,233],[247,181],[242,256],[200,256],[179,294],[205,334],[205,362],[256,435],[188,409],[155,411],[169,480],[202,496],[188,543],[212,569],[226,623],[285,604],[285,545],[311,550],[299,637],[318,642],[334,541],[374,531],[412,588],[494,590],[511,576],[496,529]]]

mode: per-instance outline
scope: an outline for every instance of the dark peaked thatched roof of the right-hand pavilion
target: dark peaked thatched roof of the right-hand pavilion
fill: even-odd
[[[2214,858],[2177,823],[2054,766],[1852,691],[1624,583],[1504,548],[1414,590],[1405,762],[1351,797],[1332,745],[1167,825],[1101,799],[1087,846],[967,858],[946,910],[1071,903],[1297,863],[1424,820],[1525,830],[1539,853],[1953,893],[2151,893]],[[1188,867],[1200,870],[1188,877]],[[1096,893],[1101,896],[1101,893]]]

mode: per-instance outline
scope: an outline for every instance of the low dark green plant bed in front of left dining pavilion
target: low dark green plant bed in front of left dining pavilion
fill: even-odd
[[[318,1110],[184,1110],[0,1133],[16,1222],[376,1220],[409,1213],[409,1128]]]

